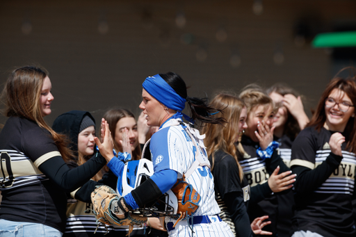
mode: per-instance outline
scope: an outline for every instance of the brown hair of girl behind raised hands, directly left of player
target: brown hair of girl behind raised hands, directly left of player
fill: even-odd
[[[136,121],[135,115],[133,115],[131,111],[125,108],[113,108],[109,111],[106,111],[103,117],[108,122],[108,128],[111,131],[111,137],[113,138],[115,150],[122,152],[122,147],[120,147],[117,142],[115,142],[116,125],[123,117],[133,117],[133,119]],[[133,150],[132,158],[133,160],[139,160],[141,158],[141,148],[139,145]]]

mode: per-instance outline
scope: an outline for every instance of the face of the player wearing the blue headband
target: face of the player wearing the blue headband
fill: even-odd
[[[142,99],[138,107],[147,115],[147,125],[161,126],[167,118],[167,112],[165,112],[163,104],[152,97],[152,95],[149,95],[145,89],[142,89]]]

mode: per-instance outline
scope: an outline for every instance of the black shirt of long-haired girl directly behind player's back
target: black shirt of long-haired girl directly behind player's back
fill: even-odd
[[[215,194],[220,206],[220,217],[229,224],[239,237],[253,236],[248,218],[247,206],[250,199],[250,186],[247,179],[241,182],[240,172],[234,157],[218,150],[209,161],[213,164]]]

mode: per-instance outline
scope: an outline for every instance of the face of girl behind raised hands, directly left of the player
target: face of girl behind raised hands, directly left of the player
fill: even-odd
[[[122,132],[125,128],[129,130],[129,140],[131,151],[133,152],[138,146],[137,123],[133,117],[122,117],[122,119],[118,121],[115,127],[115,144],[122,149],[120,140],[122,140]]]

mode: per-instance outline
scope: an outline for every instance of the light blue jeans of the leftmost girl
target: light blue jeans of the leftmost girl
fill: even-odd
[[[44,224],[0,219],[0,237],[61,237],[62,232]]]

